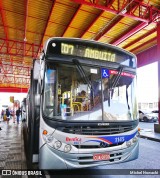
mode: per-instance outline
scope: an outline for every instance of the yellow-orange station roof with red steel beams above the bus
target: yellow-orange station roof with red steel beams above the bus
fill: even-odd
[[[110,43],[136,54],[139,66],[154,62],[159,21],[157,0],[1,0],[0,92],[27,92],[50,37]]]

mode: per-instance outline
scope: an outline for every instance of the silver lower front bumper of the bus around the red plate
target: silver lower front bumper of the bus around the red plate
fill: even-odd
[[[92,150],[86,154],[70,154],[45,144],[39,151],[39,169],[77,169],[131,161],[138,158],[139,143],[137,142],[125,149],[106,152],[110,154],[109,160],[95,161],[93,160],[95,152],[92,153]],[[97,151],[96,153],[103,154],[106,152],[103,150],[103,152]]]

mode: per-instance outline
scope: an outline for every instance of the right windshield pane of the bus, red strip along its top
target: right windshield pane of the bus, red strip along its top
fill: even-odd
[[[104,120],[136,119],[135,76],[126,72],[121,72],[118,76],[118,71],[110,70],[109,76],[103,77],[102,81]]]

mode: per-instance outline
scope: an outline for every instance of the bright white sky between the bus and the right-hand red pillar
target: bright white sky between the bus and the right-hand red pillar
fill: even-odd
[[[137,69],[137,98],[139,102],[158,101],[158,63]]]

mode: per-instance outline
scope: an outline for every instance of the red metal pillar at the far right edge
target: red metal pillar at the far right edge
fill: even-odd
[[[154,125],[154,131],[160,133],[160,22],[157,23],[157,60],[158,60],[158,124]]]

